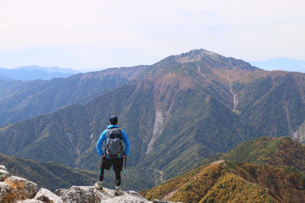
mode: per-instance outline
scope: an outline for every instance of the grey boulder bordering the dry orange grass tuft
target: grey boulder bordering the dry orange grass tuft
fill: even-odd
[[[18,181],[22,183],[23,188],[18,190],[18,192],[20,192],[27,199],[32,199],[37,194],[37,184],[29,180],[17,176],[11,176],[7,178],[6,181],[10,181],[10,182]]]

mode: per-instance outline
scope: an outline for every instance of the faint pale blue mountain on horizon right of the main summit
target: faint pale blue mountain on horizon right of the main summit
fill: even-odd
[[[265,70],[285,70],[305,73],[305,61],[289,58],[275,58],[266,61],[248,61],[252,66]]]

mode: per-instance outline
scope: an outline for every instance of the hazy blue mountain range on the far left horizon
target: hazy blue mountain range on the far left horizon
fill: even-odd
[[[58,77],[69,77],[71,75],[74,75],[74,73],[47,73],[44,70],[26,70],[26,69],[0,69],[0,76],[5,76],[9,78],[13,78],[15,80],[51,80],[52,78],[58,78]]]

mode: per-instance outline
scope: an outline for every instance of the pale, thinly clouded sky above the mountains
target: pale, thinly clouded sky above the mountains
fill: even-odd
[[[9,0],[0,6],[0,67],[150,65],[199,48],[305,61],[304,36],[303,0]]]

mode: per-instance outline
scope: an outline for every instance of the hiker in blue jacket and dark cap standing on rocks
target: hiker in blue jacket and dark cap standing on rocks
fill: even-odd
[[[123,159],[129,156],[130,143],[127,134],[124,130],[120,129],[117,116],[111,116],[109,118],[109,126],[104,130],[99,137],[99,141],[96,144],[97,152],[102,156],[102,162],[99,166],[99,182],[95,183],[95,187],[99,191],[103,191],[103,179],[104,169],[109,170],[113,166],[115,173],[115,193],[116,197],[121,193],[121,171],[123,168]],[[106,140],[105,150],[102,150],[103,141]],[[122,140],[125,143],[125,150],[123,149]]]

